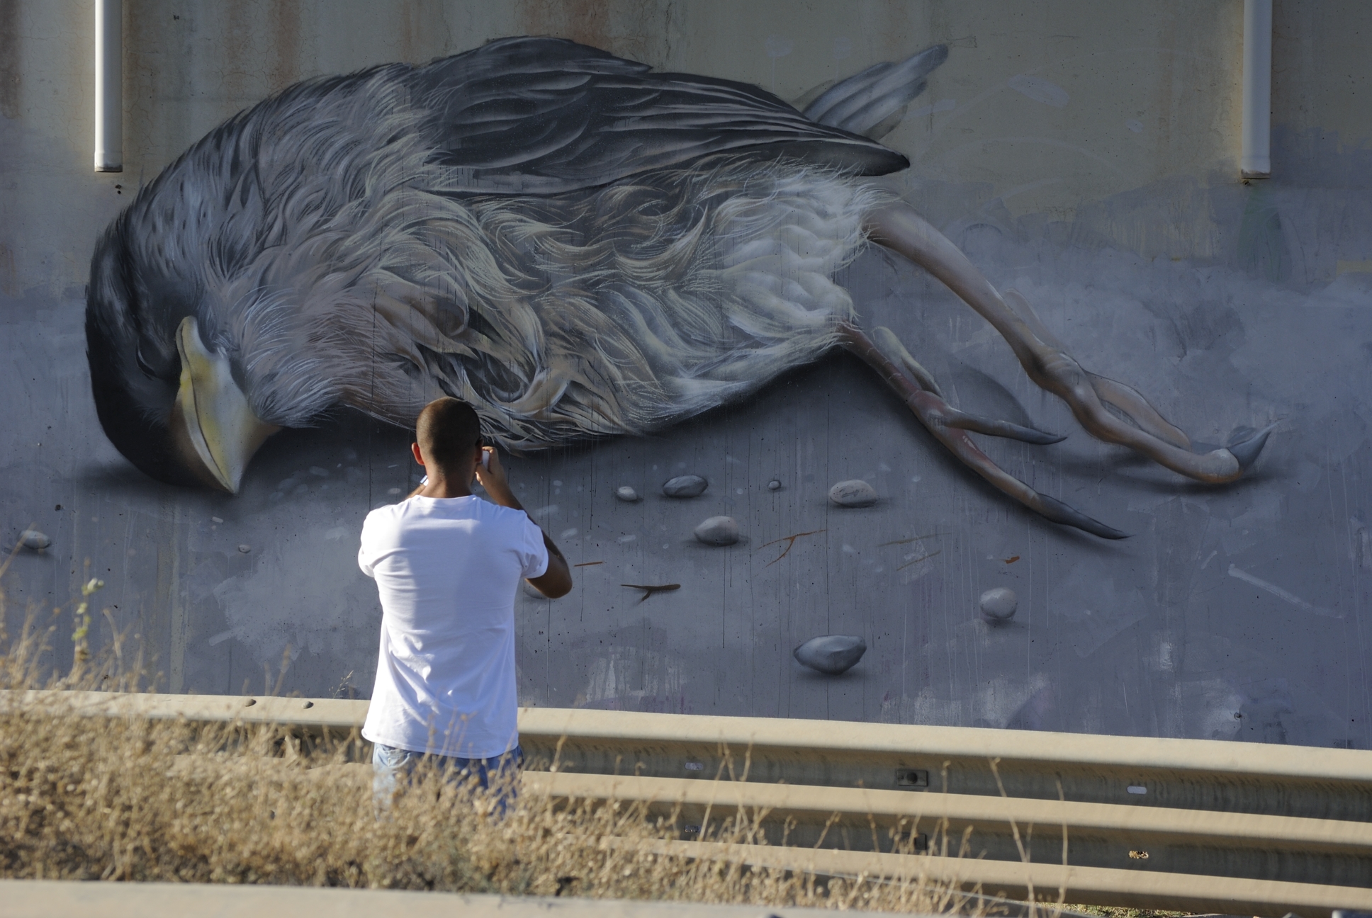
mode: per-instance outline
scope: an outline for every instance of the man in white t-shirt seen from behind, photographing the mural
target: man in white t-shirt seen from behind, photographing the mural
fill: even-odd
[[[425,755],[480,786],[513,779],[519,745],[514,591],[572,589],[567,558],[510,491],[466,402],[429,402],[414,461],[427,480],[362,524],[357,561],[381,596],[381,652],[362,735],[373,789],[388,800]],[[472,494],[477,480],[494,504]]]

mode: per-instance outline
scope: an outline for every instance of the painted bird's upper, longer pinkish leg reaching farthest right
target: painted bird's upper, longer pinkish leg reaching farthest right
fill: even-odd
[[[1185,434],[1169,424],[1143,395],[1122,383],[1084,370],[1048,333],[1024,296],[1007,291],[1002,298],[967,257],[908,204],[868,211],[864,228],[868,239],[914,261],[991,322],[1019,358],[1029,379],[1065,401],[1092,436],[1128,446],[1174,472],[1210,483],[1235,480],[1262,451],[1270,427],[1228,449],[1192,453]],[[1111,414],[1107,403],[1133,424]]]

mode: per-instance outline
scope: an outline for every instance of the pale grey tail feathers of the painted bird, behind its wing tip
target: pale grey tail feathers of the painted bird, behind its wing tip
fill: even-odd
[[[925,78],[948,59],[948,45],[933,45],[900,63],[878,63],[834,84],[805,107],[805,117],[879,140],[892,118],[925,91]]]

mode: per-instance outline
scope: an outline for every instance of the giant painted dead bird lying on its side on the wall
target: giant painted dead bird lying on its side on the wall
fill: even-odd
[[[100,423],[150,476],[237,491],[268,436],[338,405],[412,425],[454,395],[531,450],[659,429],[844,347],[997,489],[1122,535],[999,469],[969,431],[1061,438],[952,408],[892,332],[858,325],[833,276],[874,242],[984,316],[1092,435],[1239,478],[1266,431],[1192,453],[868,180],[908,167],[871,136],[945,58],[877,64],[804,113],[553,38],[294,85],[196,143],[100,237]]]

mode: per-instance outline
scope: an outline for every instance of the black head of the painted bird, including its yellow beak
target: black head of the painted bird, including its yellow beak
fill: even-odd
[[[236,494],[279,427],[259,420],[241,369],[206,344],[193,281],[169,280],[133,251],[128,221],[96,244],[86,292],[86,360],[110,442],[145,475]]]

